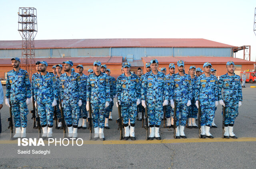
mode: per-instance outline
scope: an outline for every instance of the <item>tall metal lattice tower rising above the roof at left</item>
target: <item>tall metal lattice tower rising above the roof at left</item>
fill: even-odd
[[[18,31],[22,37],[22,57],[23,69],[28,71],[30,79],[35,73],[35,45],[34,38],[37,33],[36,8],[19,8]]]

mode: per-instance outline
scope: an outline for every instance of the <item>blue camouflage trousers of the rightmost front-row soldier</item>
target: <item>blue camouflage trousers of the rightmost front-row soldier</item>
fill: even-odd
[[[238,102],[226,101],[225,106],[226,106],[225,124],[234,124],[234,121],[238,116]]]

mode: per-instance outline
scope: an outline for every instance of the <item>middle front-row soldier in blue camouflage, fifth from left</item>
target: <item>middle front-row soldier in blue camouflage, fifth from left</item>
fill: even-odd
[[[117,78],[116,95],[121,105],[123,124],[124,124],[124,140],[136,140],[134,134],[135,118],[137,116],[137,106],[140,104],[140,82],[138,76],[131,73],[131,65],[129,62],[123,63],[124,73]],[[118,107],[118,103],[116,102]],[[130,119],[130,130],[129,122]]]

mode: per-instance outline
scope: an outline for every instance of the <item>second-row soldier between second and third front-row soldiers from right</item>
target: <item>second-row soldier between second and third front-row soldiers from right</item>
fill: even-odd
[[[196,73],[196,67],[190,66],[189,68],[190,73],[190,79],[191,79],[191,106],[188,107],[188,128],[198,128],[196,125],[196,117],[198,113],[198,108],[196,107],[196,100],[195,100],[195,90],[196,90],[196,80],[197,76],[195,76]]]

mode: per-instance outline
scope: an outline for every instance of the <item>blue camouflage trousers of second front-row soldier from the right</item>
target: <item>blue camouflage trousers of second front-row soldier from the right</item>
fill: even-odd
[[[215,104],[201,104],[201,126],[212,126]]]

